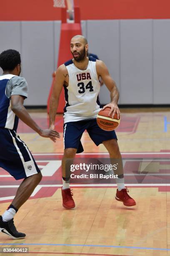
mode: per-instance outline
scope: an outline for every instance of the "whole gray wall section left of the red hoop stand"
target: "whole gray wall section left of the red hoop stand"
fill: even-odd
[[[25,105],[47,105],[52,72],[57,66],[60,21],[0,22],[0,35],[0,52],[20,51],[21,76],[29,86]]]

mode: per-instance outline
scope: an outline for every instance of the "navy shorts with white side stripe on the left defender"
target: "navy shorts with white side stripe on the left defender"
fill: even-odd
[[[25,143],[15,131],[6,128],[0,128],[0,167],[15,179],[40,172]]]

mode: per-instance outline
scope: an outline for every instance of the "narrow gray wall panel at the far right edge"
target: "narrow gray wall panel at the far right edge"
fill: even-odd
[[[170,20],[153,20],[154,104],[170,104]]]

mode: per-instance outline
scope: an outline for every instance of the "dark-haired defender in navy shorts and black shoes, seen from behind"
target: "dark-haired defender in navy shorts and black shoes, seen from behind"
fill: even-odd
[[[60,136],[56,131],[42,130],[23,106],[28,96],[28,84],[23,77],[19,77],[19,52],[11,49],[3,51],[0,67],[3,70],[0,76],[0,167],[15,179],[23,179],[13,202],[0,216],[0,231],[10,238],[19,239],[26,235],[16,230],[13,218],[41,181],[42,174],[28,147],[16,133],[18,118],[42,137],[55,142]]]

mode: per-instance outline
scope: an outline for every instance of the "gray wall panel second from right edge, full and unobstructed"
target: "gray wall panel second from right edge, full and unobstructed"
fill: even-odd
[[[120,21],[122,104],[153,103],[152,20]]]

